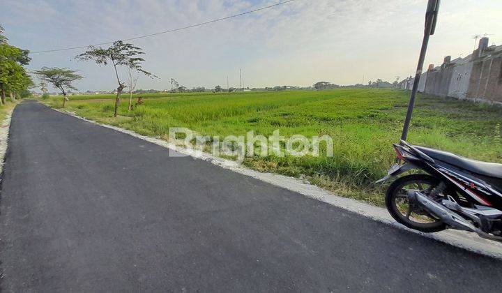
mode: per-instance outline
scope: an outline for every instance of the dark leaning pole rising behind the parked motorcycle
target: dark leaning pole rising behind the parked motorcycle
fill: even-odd
[[[420,50],[420,57],[418,58],[418,66],[416,70],[415,80],[413,81],[413,88],[411,89],[411,96],[408,105],[408,111],[406,112],[406,119],[404,120],[401,140],[406,140],[406,137],[408,137],[411,114],[413,114],[413,107],[415,106],[415,97],[418,91],[418,82],[420,82],[420,75],[422,75],[423,63],[425,61],[425,53],[427,52],[427,45],[429,45],[429,37],[434,34],[434,30],[436,28],[439,3],[441,3],[441,0],[429,0],[429,3],[427,4],[427,13],[425,13],[425,31],[422,40],[422,49]]]

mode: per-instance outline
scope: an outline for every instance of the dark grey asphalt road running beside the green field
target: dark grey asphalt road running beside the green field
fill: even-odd
[[[493,292],[502,262],[33,102],[10,126],[3,292]]]

